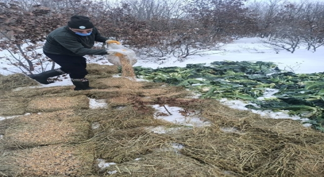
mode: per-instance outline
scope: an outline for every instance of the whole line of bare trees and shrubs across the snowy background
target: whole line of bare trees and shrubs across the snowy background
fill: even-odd
[[[120,40],[153,58],[187,56],[218,50],[233,38],[260,35],[268,43],[294,53],[307,44],[323,46],[323,3],[267,0],[0,0],[0,60],[23,73],[42,72],[55,65],[39,42],[66,25],[72,15],[89,16],[103,36]],[[145,49],[145,50],[144,50]]]

